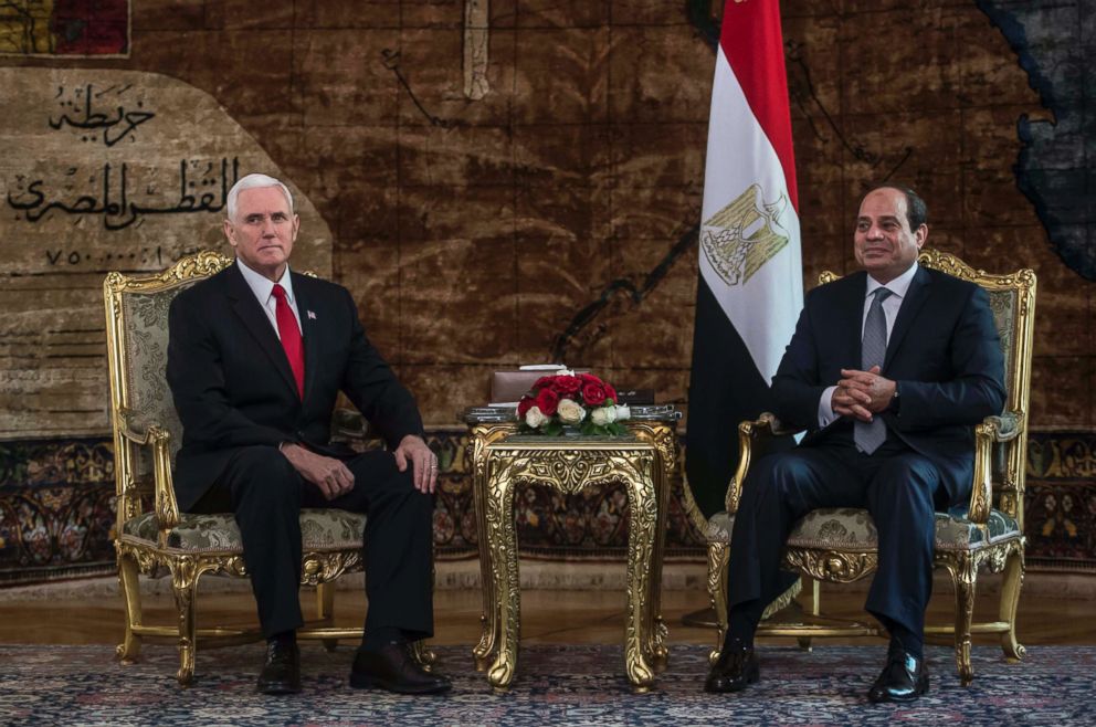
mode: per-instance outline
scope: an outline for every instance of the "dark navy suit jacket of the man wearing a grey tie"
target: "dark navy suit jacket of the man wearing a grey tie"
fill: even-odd
[[[849,435],[839,419],[819,429],[819,400],[841,369],[861,368],[866,273],[846,275],[807,295],[795,334],[772,380],[774,413],[808,429],[801,446]],[[973,425],[1001,413],[1004,359],[986,292],[919,267],[898,309],[882,375],[898,383],[897,412],[887,429],[939,468],[953,504],[968,497],[973,474]]]

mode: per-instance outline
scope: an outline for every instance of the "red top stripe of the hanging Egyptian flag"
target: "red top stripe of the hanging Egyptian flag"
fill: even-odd
[[[727,0],[719,34],[723,54],[738,78],[746,102],[784,170],[784,183],[799,214],[795,155],[791,145],[791,112],[788,107],[788,73],[780,33],[778,0]]]

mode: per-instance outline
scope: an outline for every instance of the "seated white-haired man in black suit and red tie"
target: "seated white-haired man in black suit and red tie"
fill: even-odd
[[[242,178],[228,214],[236,262],[171,303],[167,376],[183,425],[179,507],[232,512],[240,526],[267,639],[259,691],[301,689],[302,507],[368,514],[369,609],[350,685],[446,691],[408,645],[433,632],[438,477],[414,399],[366,338],[349,292],[289,271],[301,221],[285,185]],[[339,391],[390,451],[355,454],[329,442]]]

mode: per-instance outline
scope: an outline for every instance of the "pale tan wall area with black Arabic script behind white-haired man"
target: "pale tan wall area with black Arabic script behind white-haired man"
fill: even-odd
[[[278,170],[213,98],[159,74],[0,69],[0,438],[102,433],[104,275],[228,251],[229,188]],[[329,275],[331,233],[294,192],[294,261]]]

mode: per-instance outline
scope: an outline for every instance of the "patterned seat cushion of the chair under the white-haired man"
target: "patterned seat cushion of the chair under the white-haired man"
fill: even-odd
[[[360,548],[366,516],[333,508],[301,510],[301,536],[306,551]],[[143,513],[126,520],[123,533],[156,545],[159,535],[156,515]],[[196,515],[181,513],[179,524],[168,533],[168,547],[178,550],[243,552],[240,528],[231,514]]]

